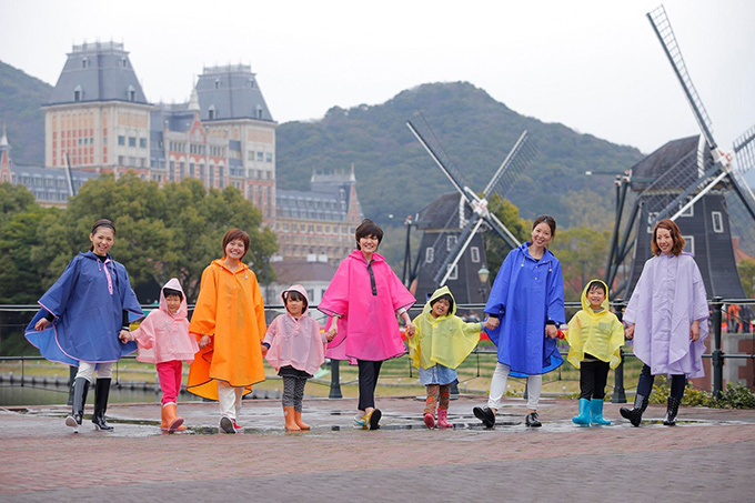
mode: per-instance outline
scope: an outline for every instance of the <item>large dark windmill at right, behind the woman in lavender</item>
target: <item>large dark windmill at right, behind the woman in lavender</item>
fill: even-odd
[[[664,144],[617,180],[617,204],[626,199],[627,188],[637,192],[637,198],[621,239],[622,210],[617,207],[608,284],[613,284],[633,251],[628,276],[615,288],[614,296],[631,293],[650,258],[653,227],[667,218],[676,221],[686,250],[695,254],[708,295],[744,298],[732,238],[736,237],[738,245],[755,255],[755,195],[743,179],[755,164],[755,128],[735,140],[732,152],[718,145],[665,9],[661,6],[647,18],[682,84],[701,134]]]

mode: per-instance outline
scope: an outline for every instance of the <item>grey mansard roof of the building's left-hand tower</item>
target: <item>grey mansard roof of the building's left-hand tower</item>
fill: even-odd
[[[47,104],[92,101],[149,104],[122,43],[73,46]]]

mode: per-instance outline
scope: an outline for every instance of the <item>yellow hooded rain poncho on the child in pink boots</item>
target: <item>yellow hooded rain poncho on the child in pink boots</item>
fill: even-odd
[[[414,319],[416,332],[409,339],[409,352],[415,368],[430,369],[440,363],[449,369],[457,368],[480,342],[481,323],[465,323],[456,316],[456,301],[445,316],[433,318],[430,303],[449,294],[447,286],[435,290],[422,313]]]

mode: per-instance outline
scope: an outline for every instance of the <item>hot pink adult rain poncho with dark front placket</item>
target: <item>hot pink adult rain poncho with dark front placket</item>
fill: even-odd
[[[341,262],[318,309],[340,315],[339,333],[325,356],[333,360],[384,361],[406,353],[396,311],[414,304],[414,296],[389,264],[373,253],[368,264],[354,250]]]

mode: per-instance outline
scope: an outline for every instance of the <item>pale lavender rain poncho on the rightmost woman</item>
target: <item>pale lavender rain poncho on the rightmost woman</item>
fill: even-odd
[[[653,375],[705,375],[703,353],[708,334],[708,305],[703,276],[689,253],[661,254],[645,262],[624,321],[634,324],[634,354]],[[689,326],[699,320],[699,339]]]

